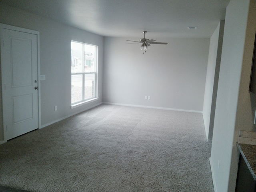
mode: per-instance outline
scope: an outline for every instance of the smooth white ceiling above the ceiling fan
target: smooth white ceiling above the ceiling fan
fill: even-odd
[[[0,0],[102,36],[210,38],[230,0]],[[188,29],[196,26],[196,30]],[[146,37],[147,37],[146,36]]]

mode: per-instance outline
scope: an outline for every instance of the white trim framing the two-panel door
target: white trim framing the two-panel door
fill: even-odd
[[[3,29],[14,30],[14,31],[18,31],[18,32],[24,32],[24,33],[30,33],[30,34],[36,35],[36,38],[37,38],[37,69],[38,69],[38,71],[37,71],[37,78],[38,78],[38,128],[41,128],[41,96],[40,96],[40,94],[41,94],[41,90],[40,90],[41,86],[40,85],[41,84],[40,84],[40,45],[39,45],[39,41],[40,41],[39,34],[40,33],[39,33],[39,31],[30,30],[30,29],[26,29],[26,28],[20,28],[20,27],[0,23],[0,34],[2,34]],[[2,78],[2,76],[1,76],[1,78]],[[6,138],[6,131],[5,131],[4,127],[5,127],[5,124],[4,124],[4,119],[3,119],[4,138]]]

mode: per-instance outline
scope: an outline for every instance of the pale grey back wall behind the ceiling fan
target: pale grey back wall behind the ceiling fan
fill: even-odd
[[[209,38],[156,38],[168,44],[145,54],[126,39],[104,38],[103,102],[203,110]]]

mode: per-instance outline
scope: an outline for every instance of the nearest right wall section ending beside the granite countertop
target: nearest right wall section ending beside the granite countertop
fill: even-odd
[[[248,92],[256,31],[255,4],[255,0],[231,0],[226,9],[210,158],[216,192],[235,190],[238,131],[255,130],[252,116],[256,97]]]

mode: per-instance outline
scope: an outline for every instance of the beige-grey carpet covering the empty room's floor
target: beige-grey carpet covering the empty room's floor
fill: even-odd
[[[202,114],[100,105],[0,145],[0,185],[32,192],[214,192]]]

